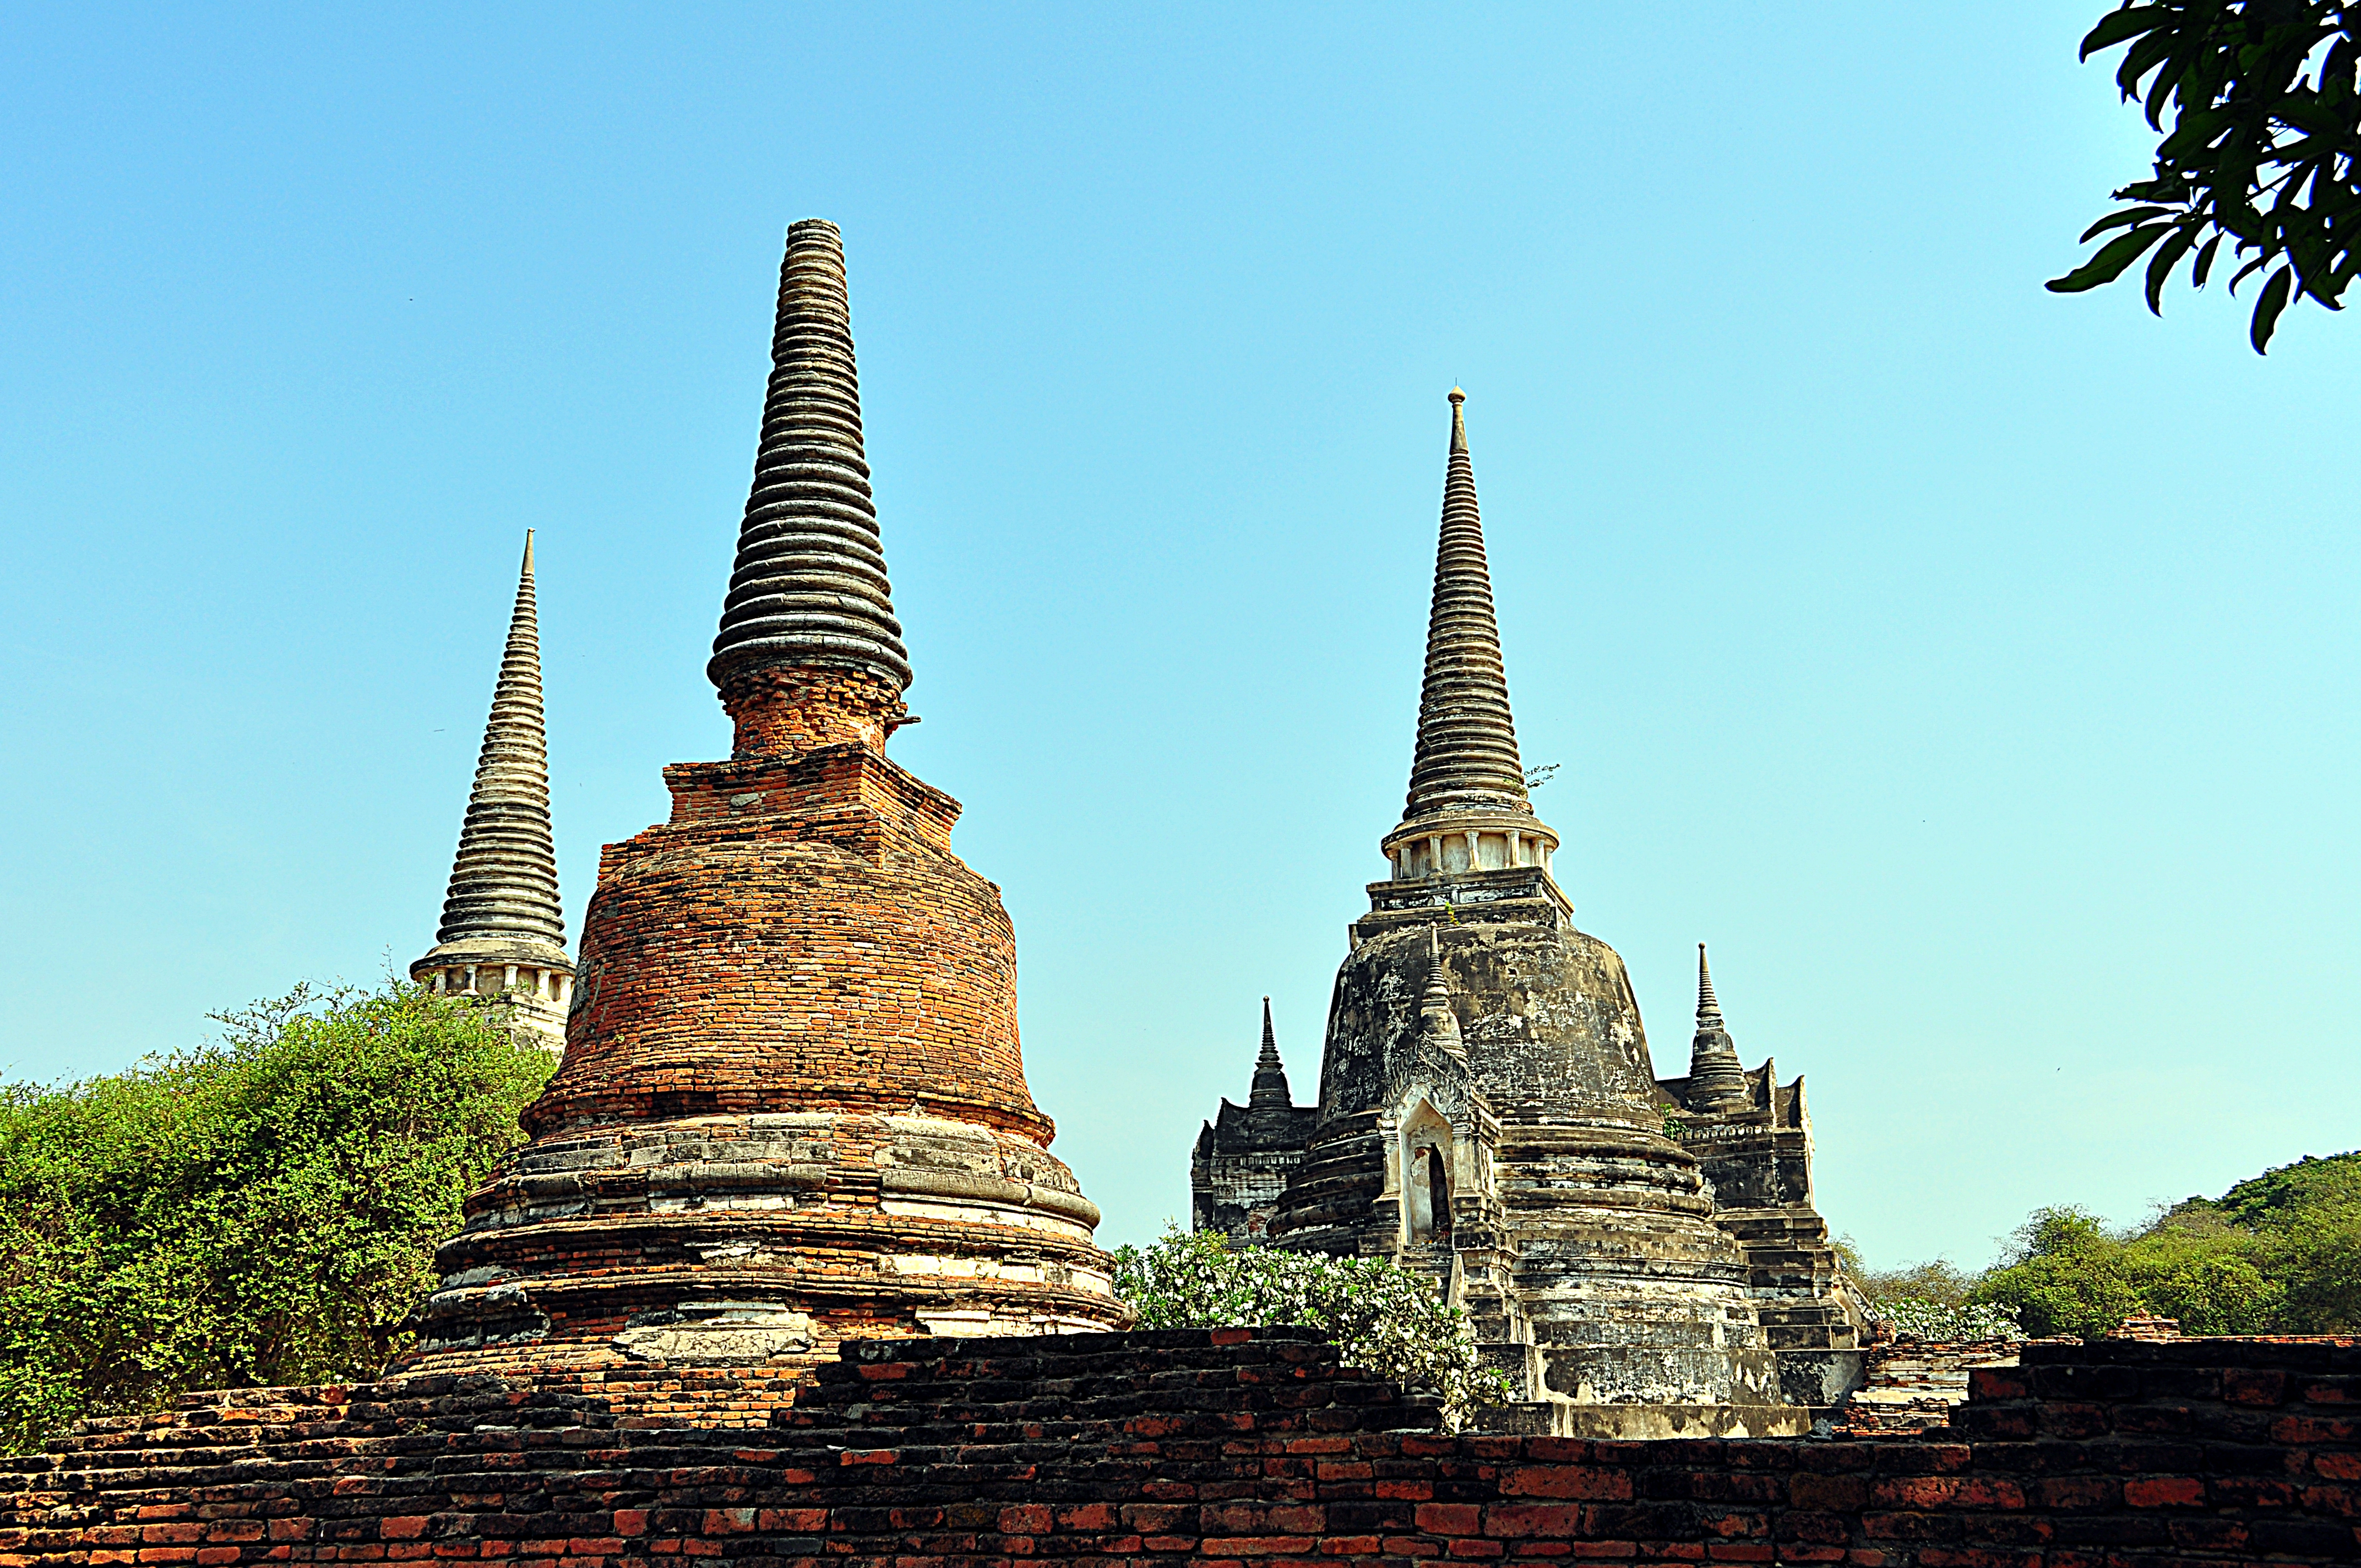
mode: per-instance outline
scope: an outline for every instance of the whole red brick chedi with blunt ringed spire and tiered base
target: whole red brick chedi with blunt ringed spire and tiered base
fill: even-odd
[[[907,723],[833,224],[789,229],[708,675],[727,763],[607,845],[531,1133],[467,1200],[420,1367],[796,1365],[1114,1327],[1098,1209],[1018,1051],[1015,930]]]

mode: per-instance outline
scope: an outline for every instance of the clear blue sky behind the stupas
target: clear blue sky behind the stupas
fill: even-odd
[[[822,215],[1105,1240],[1265,992],[1313,1093],[1454,378],[1577,919],[1660,1072],[1712,942],[1872,1261],[2361,1143],[2361,324],[2042,293],[2144,168],[2099,0],[349,9],[0,19],[7,1072],[427,947],[527,527],[578,935],[727,753]]]

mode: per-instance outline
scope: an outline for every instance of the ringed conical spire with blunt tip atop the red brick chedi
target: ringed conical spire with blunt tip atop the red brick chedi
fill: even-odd
[[[869,673],[900,694],[909,654],[862,451],[845,246],[826,220],[786,229],[770,357],[763,446],[706,675],[725,701],[744,675],[815,666]]]

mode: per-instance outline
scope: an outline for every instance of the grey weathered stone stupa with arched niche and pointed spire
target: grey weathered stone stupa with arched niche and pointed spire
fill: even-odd
[[[1624,963],[1572,923],[1509,713],[1454,387],[1417,756],[1393,876],[1329,1004],[1282,1247],[1376,1254],[1464,1306],[1563,1436],[1785,1433],[1747,1259],[1665,1136]]]

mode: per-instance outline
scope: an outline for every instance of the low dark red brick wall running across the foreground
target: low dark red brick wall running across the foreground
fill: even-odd
[[[866,1341],[760,1433],[491,1377],[97,1422],[0,1471],[0,1568],[2330,1563],[2356,1400],[2342,1339],[2040,1344],[1924,1438],[1584,1443],[1445,1436],[1287,1329]]]

